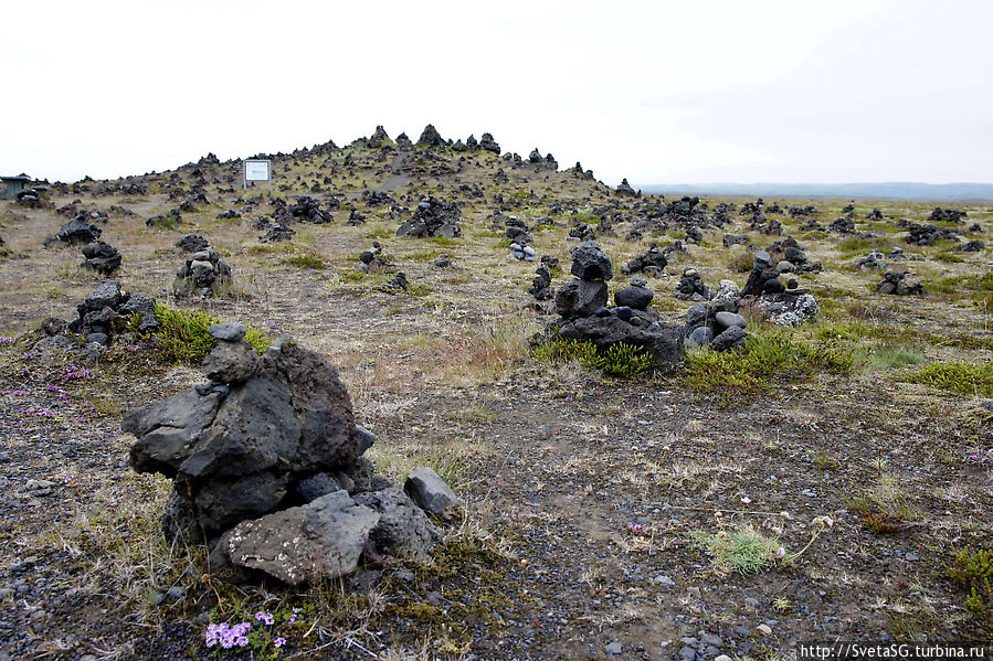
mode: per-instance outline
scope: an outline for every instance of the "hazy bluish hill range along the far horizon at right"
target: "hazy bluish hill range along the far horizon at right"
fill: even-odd
[[[634,188],[638,188],[635,185]],[[742,195],[781,198],[868,198],[874,200],[931,200],[934,202],[993,202],[993,183],[652,183],[645,193],[679,195]]]

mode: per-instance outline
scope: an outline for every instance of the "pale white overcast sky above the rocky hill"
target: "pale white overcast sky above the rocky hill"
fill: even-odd
[[[50,1],[0,39],[0,174],[489,131],[616,184],[993,181],[989,0]]]

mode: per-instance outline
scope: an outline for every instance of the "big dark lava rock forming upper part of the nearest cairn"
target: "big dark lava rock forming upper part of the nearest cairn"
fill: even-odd
[[[258,359],[237,340],[219,344],[204,365],[226,385],[131,411],[122,425],[138,437],[134,469],[175,480],[172,510],[193,516],[179,527],[210,539],[276,511],[292,483],[359,458],[351,399],[317,353],[285,339]]]

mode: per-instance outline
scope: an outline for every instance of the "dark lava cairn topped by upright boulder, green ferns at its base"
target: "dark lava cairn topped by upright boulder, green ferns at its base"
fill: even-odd
[[[613,278],[611,262],[595,243],[587,242],[572,254],[572,280],[556,291],[552,322],[561,337],[592,342],[600,350],[616,344],[645,349],[659,370],[673,370],[683,360],[683,329],[663,324],[649,307],[654,294],[643,279],[617,291],[615,307],[606,307],[606,281]]]

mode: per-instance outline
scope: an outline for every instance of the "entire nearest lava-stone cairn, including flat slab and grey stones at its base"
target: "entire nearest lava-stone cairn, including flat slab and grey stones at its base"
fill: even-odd
[[[167,540],[205,541],[210,572],[289,585],[336,578],[365,559],[425,557],[441,539],[427,518],[457,499],[431,469],[404,487],[373,475],[376,437],[355,423],[334,366],[283,338],[263,355],[240,323],[213,326],[208,383],[131,411],[130,465],[173,482]]]

